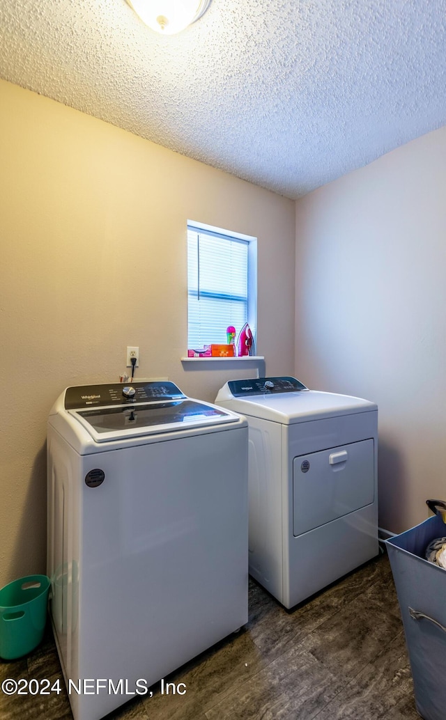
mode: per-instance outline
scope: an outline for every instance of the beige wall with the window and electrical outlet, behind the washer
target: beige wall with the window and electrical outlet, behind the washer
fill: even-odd
[[[254,370],[182,366],[188,218],[258,238],[258,343],[294,365],[295,206],[0,81],[0,586],[45,572],[45,434],[70,384],[140,377],[213,400]]]

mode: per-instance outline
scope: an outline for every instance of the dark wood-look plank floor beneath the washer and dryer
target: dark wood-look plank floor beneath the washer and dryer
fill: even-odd
[[[0,661],[5,678],[61,678],[48,630],[30,657]],[[249,624],[169,678],[183,696],[136,698],[107,720],[416,720],[388,559],[380,556],[287,612],[254,582]],[[155,690],[155,688],[153,688]],[[60,695],[0,690],[1,720],[71,719]]]

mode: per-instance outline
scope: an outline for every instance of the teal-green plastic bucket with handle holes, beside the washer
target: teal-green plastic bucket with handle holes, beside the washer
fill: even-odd
[[[27,575],[0,590],[0,657],[15,660],[42,641],[50,578]]]

